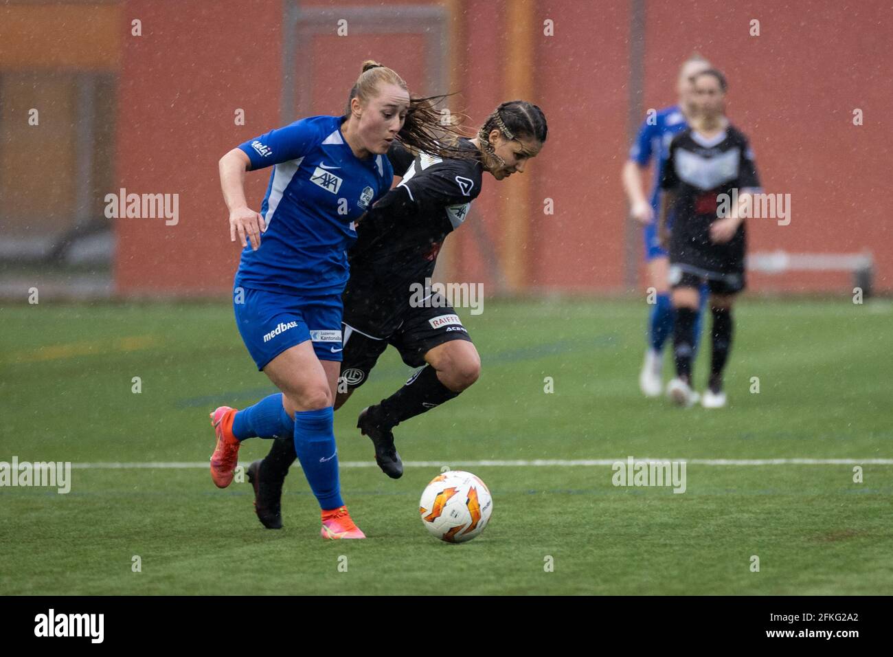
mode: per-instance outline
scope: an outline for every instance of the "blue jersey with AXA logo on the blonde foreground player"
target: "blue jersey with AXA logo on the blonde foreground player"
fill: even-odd
[[[236,287],[321,297],[340,295],[349,273],[355,220],[389,189],[388,157],[358,159],[340,116],[312,116],[239,148],[251,170],[273,165],[261,215],[261,246],[242,250]]]

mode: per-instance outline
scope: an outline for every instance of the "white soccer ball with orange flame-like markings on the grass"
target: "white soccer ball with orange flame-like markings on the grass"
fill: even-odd
[[[484,531],[493,512],[489,489],[471,472],[450,470],[421,493],[421,522],[447,543],[465,543]]]

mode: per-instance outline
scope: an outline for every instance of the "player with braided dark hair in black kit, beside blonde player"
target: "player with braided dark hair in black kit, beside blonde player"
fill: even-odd
[[[458,140],[465,157],[461,152],[447,159],[416,156],[396,143],[388,151],[399,183],[363,217],[349,253],[335,409],[365,383],[388,345],[406,365],[421,367],[390,397],[363,409],[357,422],[391,478],[403,475],[394,427],[454,399],[480,375],[478,351],[455,310],[437,294],[419,304],[413,290],[430,282],[443,241],[480,194],[483,173],[497,181],[522,173],[546,137],[546,117],[538,106],[514,100],[499,105],[474,139]],[[282,483],[295,459],[293,442],[275,440],[270,453],[248,468],[263,526],[282,526]]]

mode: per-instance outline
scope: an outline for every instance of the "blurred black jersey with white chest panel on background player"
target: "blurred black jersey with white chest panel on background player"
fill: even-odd
[[[722,194],[759,188],[754,156],[745,137],[728,125],[711,139],[689,128],[670,144],[661,188],[675,192],[670,235],[670,261],[708,272],[744,270],[745,222],[728,242],[710,239],[710,224],[717,220]],[[734,197],[734,198],[737,198]]]

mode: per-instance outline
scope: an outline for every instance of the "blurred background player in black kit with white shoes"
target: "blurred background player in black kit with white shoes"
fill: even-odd
[[[673,217],[670,283],[676,313],[676,378],[667,385],[667,395],[680,406],[697,401],[691,384],[692,345],[698,288],[706,282],[713,352],[701,404],[719,409],[726,405],[722,370],[731,348],[732,302],[745,287],[747,238],[740,209],[752,202],[750,194],[760,182],[747,138],[725,117],[725,77],[710,69],[698,73],[694,84],[699,114],[689,130],[672,140],[661,181],[667,191],[660,216],[664,240],[668,213]]]

